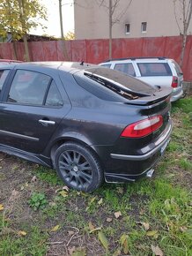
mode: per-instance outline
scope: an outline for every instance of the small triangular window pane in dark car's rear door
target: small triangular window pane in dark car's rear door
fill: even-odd
[[[59,93],[54,81],[52,81],[51,86],[48,90],[48,97],[45,104],[46,106],[53,106],[53,107],[63,106],[62,96]]]

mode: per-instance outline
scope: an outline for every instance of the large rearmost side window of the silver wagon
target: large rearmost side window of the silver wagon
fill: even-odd
[[[171,69],[166,63],[137,63],[142,77],[172,76]]]

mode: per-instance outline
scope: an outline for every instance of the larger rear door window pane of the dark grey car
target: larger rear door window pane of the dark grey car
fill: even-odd
[[[8,102],[42,105],[49,83],[47,75],[18,70],[11,84]]]

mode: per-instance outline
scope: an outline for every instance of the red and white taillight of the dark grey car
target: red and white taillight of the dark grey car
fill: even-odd
[[[122,131],[122,137],[141,138],[158,130],[163,124],[163,117],[149,117],[134,124],[129,124]]]

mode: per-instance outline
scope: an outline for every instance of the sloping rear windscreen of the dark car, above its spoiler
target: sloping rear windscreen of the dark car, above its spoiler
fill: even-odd
[[[87,68],[74,74],[78,85],[100,99],[112,102],[154,94],[156,89],[122,72],[102,67]]]

